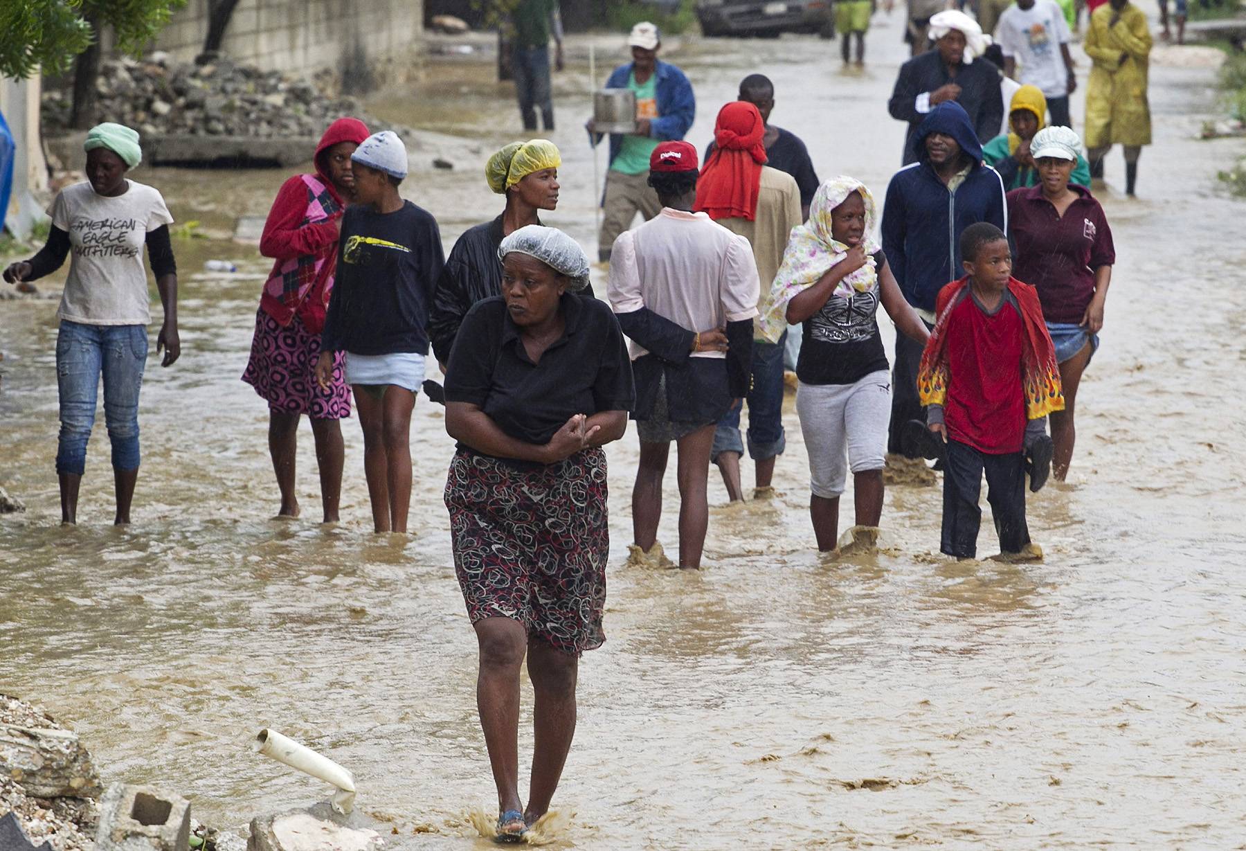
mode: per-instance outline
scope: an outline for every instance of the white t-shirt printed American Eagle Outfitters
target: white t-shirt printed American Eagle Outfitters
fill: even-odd
[[[159,192],[126,181],[115,198],[96,194],[90,183],[61,189],[49,211],[52,226],[70,235],[70,274],[56,315],[85,325],[146,325],[147,232],[172,224]]]

